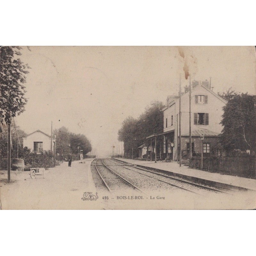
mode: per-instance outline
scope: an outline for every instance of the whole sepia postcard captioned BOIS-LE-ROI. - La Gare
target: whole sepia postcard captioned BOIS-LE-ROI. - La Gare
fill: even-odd
[[[256,208],[254,46],[2,46],[2,210]]]

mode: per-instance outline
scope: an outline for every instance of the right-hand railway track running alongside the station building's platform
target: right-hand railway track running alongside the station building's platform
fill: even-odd
[[[121,161],[118,161],[118,160],[113,159],[113,158],[109,158],[109,159],[111,159],[111,161],[115,161],[115,162],[117,162],[117,163],[122,163]],[[152,173],[153,175],[156,175],[156,176],[158,176],[158,177],[168,178],[169,180],[175,180],[175,181],[178,181],[178,182],[180,182],[180,183],[186,183],[186,184],[189,184],[189,185],[194,186],[194,187],[198,187],[198,188],[203,188],[203,189],[206,189],[206,190],[210,190],[210,191],[213,191],[213,192],[215,192],[215,193],[226,193],[226,194],[229,194],[229,193],[227,193],[227,192],[225,192],[225,191],[222,191],[222,190],[219,190],[219,189],[216,189],[216,188],[207,187],[207,186],[204,186],[204,185],[201,185],[201,184],[197,184],[197,183],[193,183],[193,182],[190,182],[190,181],[187,181],[187,180],[181,180],[181,179],[178,179],[178,178],[175,178],[175,177],[172,177],[172,176],[169,176],[169,175],[165,175],[165,174],[162,174],[162,173],[157,173],[157,172],[154,172],[154,171],[149,171],[149,170],[146,170],[146,169],[144,169],[144,168],[140,168],[140,167],[137,167],[137,166],[133,166],[132,164],[127,164],[127,165],[124,165],[124,163],[122,163],[122,164],[123,164],[122,166],[123,166],[125,169],[131,170],[131,171],[134,171],[134,172],[138,172],[138,173],[140,173],[140,174],[142,174],[142,175],[148,176],[148,177],[153,178],[153,179],[156,179],[156,180],[160,180],[160,179],[158,179],[158,178],[156,178],[156,177],[153,177],[152,175],[147,175],[147,174],[145,174],[145,173],[142,173],[141,171],[143,171],[143,172],[148,172],[148,173]],[[128,168],[127,166],[128,166],[129,168]],[[140,171],[137,171],[137,170],[134,170],[134,169],[137,169],[137,170],[140,170]],[[181,188],[181,189],[184,189],[184,190],[187,190],[187,191],[196,193],[196,192],[194,192],[194,191],[192,191],[192,190],[190,190],[190,189],[187,189],[187,188],[184,188],[184,187],[182,187],[182,186],[180,186],[180,185],[177,185],[177,183],[176,183],[176,184],[173,184],[172,182],[165,181],[165,180],[160,180],[160,181],[165,182],[165,183],[167,183],[167,184],[170,184],[170,185],[172,185],[172,186],[175,186],[175,187],[178,187],[178,188]],[[196,193],[196,194],[198,194],[198,193]]]

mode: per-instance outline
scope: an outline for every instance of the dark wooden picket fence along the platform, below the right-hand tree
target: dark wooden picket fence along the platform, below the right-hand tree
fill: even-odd
[[[203,170],[256,179],[254,157],[204,157]],[[189,159],[189,167],[201,169],[201,157]]]

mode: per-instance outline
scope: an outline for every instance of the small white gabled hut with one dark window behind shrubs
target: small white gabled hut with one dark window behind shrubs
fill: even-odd
[[[51,150],[51,136],[40,130],[30,133],[22,139],[23,148],[28,147],[37,154],[40,153],[40,150]]]

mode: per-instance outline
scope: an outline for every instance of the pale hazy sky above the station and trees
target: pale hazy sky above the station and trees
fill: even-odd
[[[177,94],[188,65],[191,80],[209,80],[214,92],[233,87],[255,94],[255,47],[23,47],[27,75],[25,111],[16,122],[25,132],[51,133],[66,126],[99,152],[120,145],[117,131],[152,100]],[[180,50],[180,51],[179,51]],[[184,53],[184,55],[182,54]],[[180,54],[181,53],[181,54]],[[184,56],[184,58],[183,58]]]

